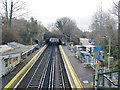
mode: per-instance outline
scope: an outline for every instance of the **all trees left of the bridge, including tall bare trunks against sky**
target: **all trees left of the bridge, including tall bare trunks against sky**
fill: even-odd
[[[33,17],[25,20],[27,5],[23,0],[1,0],[0,17],[2,18],[2,43],[16,41],[23,44],[33,44],[35,40],[42,43],[42,33],[48,30]]]

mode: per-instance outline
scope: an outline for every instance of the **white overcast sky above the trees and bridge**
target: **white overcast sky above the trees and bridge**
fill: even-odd
[[[46,27],[57,18],[70,17],[80,29],[88,30],[92,16],[102,2],[103,10],[113,7],[118,0],[25,0],[30,10],[29,17],[41,21]]]

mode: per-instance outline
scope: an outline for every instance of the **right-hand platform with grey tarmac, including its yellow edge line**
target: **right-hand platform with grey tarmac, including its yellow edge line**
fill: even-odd
[[[72,78],[72,81],[74,81],[74,84],[78,81],[80,84],[80,88],[93,88],[93,75],[94,70],[91,67],[85,67],[84,63],[81,63],[78,59],[75,58],[75,54],[72,53],[70,50],[68,50],[67,46],[62,46],[63,51],[65,52],[65,55],[63,55],[65,58],[68,58],[68,63],[71,64],[71,67],[69,68],[69,64],[66,64],[68,67],[68,74],[70,78]],[[72,70],[70,70],[72,68]],[[72,71],[72,72],[71,72]],[[73,74],[73,75],[72,75]],[[77,78],[77,81],[73,79]],[[77,88],[76,84],[73,84],[73,88]],[[79,85],[78,85],[79,87]]]

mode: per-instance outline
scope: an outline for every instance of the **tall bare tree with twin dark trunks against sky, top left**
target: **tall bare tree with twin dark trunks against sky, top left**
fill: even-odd
[[[27,5],[22,0],[17,1],[11,0],[11,2],[8,2],[8,0],[1,0],[0,3],[2,6],[2,10],[0,13],[2,17],[5,18],[4,22],[8,24],[10,27],[12,25],[12,18],[20,17],[28,13],[25,11]]]

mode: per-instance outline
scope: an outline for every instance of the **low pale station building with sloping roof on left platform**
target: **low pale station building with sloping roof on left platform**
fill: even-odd
[[[0,45],[0,77],[14,70],[16,65],[34,51],[36,46],[37,44],[26,46],[16,42]]]

